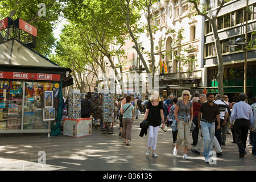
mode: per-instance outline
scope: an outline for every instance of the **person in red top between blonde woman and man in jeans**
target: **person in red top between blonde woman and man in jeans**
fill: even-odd
[[[197,117],[199,114],[199,108],[201,107],[201,104],[199,104],[197,97],[193,97],[192,105],[193,105],[193,123],[196,125],[195,129],[192,131],[192,138],[193,138],[192,145],[196,146],[197,140],[198,140],[198,134],[199,134]]]

